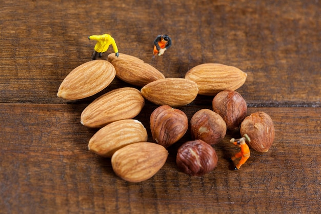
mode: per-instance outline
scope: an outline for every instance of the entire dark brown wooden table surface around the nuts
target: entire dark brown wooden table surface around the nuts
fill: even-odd
[[[0,213],[320,213],[321,3],[307,1],[0,1]],[[238,149],[227,132],[214,145],[217,167],[190,177],[169,147],[151,179],[118,178],[110,159],[88,151],[97,131],[80,114],[99,95],[131,86],[117,78],[78,101],[56,96],[66,75],[91,60],[89,35],[111,34],[120,53],[184,77],[202,63],[248,74],[237,89],[248,114],[268,113],[275,139],[267,153],[251,150],[238,171],[224,157]],[[172,37],[152,59],[154,38]],[[106,59],[109,50],[103,54]],[[190,119],[211,109],[212,96],[179,108]],[[157,106],[135,119],[148,131]]]

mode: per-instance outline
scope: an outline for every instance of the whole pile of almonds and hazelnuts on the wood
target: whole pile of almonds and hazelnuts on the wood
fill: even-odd
[[[191,141],[178,148],[177,167],[191,176],[212,171],[217,154],[212,145],[222,141],[227,130],[247,134],[249,146],[267,152],[274,140],[270,116],[256,112],[247,116],[247,104],[235,90],[245,83],[247,74],[238,68],[207,63],[191,68],[185,78],[165,78],[157,69],[127,54],[109,54],[106,60],[84,63],[71,71],[58,89],[66,100],[87,98],[102,91],[117,77],[142,87],[117,88],[99,96],[81,114],[81,123],[99,128],[89,141],[90,151],[111,158],[117,176],[141,182],[154,176],[168,157],[167,148],[181,139],[188,128]],[[198,94],[214,96],[210,109],[187,115],[177,109]],[[134,120],[145,100],[158,107],[150,115],[150,129],[156,143],[147,142],[144,125]],[[190,126],[189,126],[190,124]]]

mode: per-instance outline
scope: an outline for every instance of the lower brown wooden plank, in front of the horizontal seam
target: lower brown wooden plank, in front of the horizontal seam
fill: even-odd
[[[275,140],[264,154],[229,170],[235,134],[213,146],[218,166],[202,177],[180,172],[169,147],[164,167],[151,179],[128,183],[110,159],[87,150],[96,129],[79,123],[84,104],[0,104],[0,210],[3,213],[317,213],[320,207],[321,108],[249,108],[265,111]],[[136,119],[148,130],[154,105]],[[198,108],[181,108],[190,119]]]

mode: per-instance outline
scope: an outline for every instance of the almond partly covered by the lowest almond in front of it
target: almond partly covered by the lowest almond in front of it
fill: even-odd
[[[141,122],[133,119],[120,120],[99,129],[89,140],[88,149],[111,158],[115,151],[124,146],[146,141],[147,131]]]

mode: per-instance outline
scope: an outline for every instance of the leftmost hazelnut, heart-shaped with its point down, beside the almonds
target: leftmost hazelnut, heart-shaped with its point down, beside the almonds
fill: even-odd
[[[156,143],[168,148],[186,133],[187,115],[168,105],[159,106],[150,115],[150,129]]]

